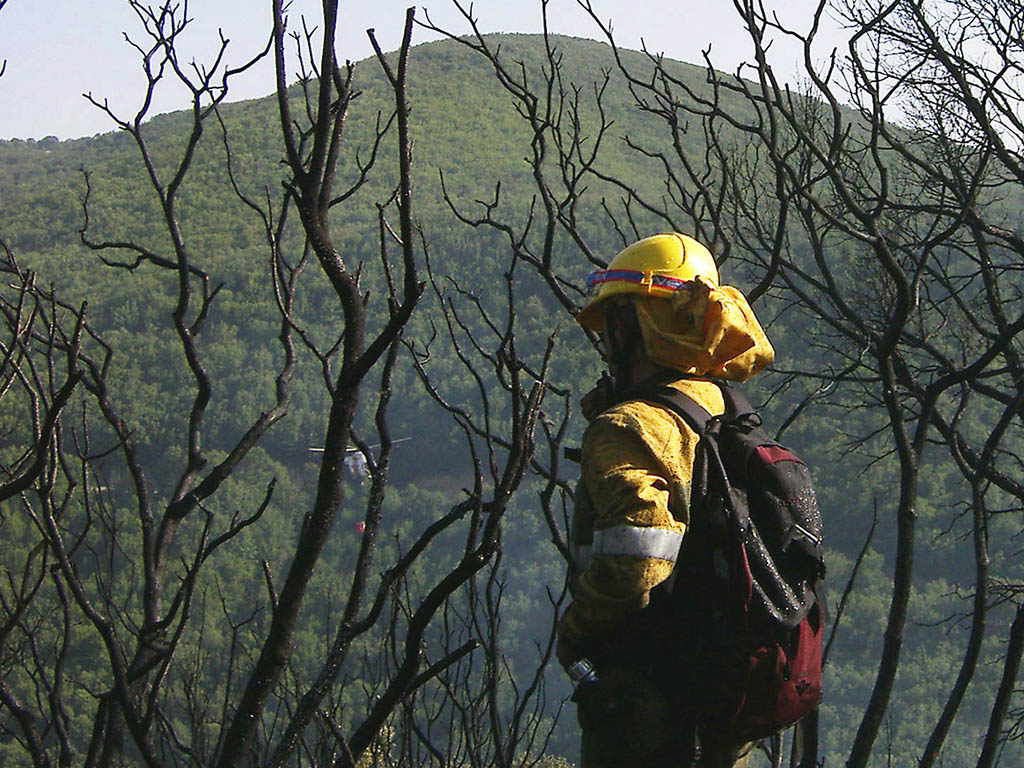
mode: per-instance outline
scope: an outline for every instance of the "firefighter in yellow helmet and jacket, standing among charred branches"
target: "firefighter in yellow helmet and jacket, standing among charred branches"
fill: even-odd
[[[678,658],[649,605],[687,532],[697,437],[630,390],[668,384],[721,414],[710,380],[745,381],[773,350],[743,295],[720,285],[712,254],[685,234],[634,243],[588,288],[577,321],[601,333],[611,377],[582,403],[589,425],[570,535],[577,572],[556,649],[577,683],[582,765],[687,768],[699,754],[696,765],[738,768],[748,748],[698,722],[672,672],[699,659]]]

